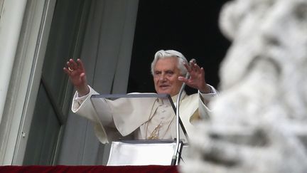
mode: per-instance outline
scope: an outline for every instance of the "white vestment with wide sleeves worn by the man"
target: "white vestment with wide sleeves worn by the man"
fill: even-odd
[[[210,112],[207,103],[216,95],[215,89],[210,87],[212,93],[198,92],[193,95],[183,93],[181,96],[179,112],[188,134],[193,129],[191,124],[193,117],[205,117]],[[109,140],[116,140],[133,132],[135,140],[145,140],[158,125],[161,125],[161,132],[158,132],[159,139],[176,137],[176,120],[173,118],[175,112],[172,112],[171,105],[165,104],[163,100],[156,98],[99,99],[95,101],[95,105],[99,106],[94,108],[90,97],[97,94],[90,88],[88,95],[79,98],[76,92],[72,100],[72,112],[94,122],[95,134],[100,142],[107,143]],[[177,95],[172,97],[174,103],[176,99]]]

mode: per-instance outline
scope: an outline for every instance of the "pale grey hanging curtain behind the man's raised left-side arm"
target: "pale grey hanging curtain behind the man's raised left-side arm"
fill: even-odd
[[[126,93],[137,8],[138,0],[92,0],[79,58],[99,93]],[[107,153],[92,123],[70,112],[58,164],[105,164]]]

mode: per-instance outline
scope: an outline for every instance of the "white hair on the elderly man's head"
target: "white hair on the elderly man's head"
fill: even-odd
[[[175,57],[178,59],[178,69],[181,71],[181,75],[185,75],[186,73],[188,73],[188,70],[183,65],[183,63],[188,64],[188,61],[183,56],[182,53],[173,50],[166,50],[166,51],[160,50],[156,52],[154,56],[154,61],[151,63],[151,74],[154,75],[154,66],[156,65],[158,59],[170,58],[170,57]]]

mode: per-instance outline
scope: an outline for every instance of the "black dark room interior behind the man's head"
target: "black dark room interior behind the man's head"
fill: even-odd
[[[217,88],[220,62],[230,46],[218,26],[225,2],[140,0],[127,92],[155,92],[151,61],[161,49],[180,51],[188,61],[195,58],[205,69],[206,82]]]

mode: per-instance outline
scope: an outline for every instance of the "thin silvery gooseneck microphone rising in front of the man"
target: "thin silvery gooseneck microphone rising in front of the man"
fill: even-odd
[[[191,59],[189,65],[193,65],[193,63],[196,63],[195,59]],[[190,74],[186,73],[185,78],[190,78]],[[179,120],[180,120],[180,116],[179,116],[179,103],[181,100],[181,95],[183,93],[183,90],[185,88],[185,83],[183,83],[183,85],[181,86],[181,90],[179,90],[178,93],[178,97],[177,97],[177,101],[176,101],[176,148],[174,150],[173,153],[173,157],[172,157],[172,161],[171,161],[171,165],[176,165],[176,162],[178,160],[178,154],[179,154],[179,141],[180,141],[180,132],[179,132]],[[184,128],[184,127],[183,127]],[[185,131],[185,130],[184,130]]]

